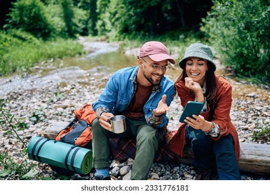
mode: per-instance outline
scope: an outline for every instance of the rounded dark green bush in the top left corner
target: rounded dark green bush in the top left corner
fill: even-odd
[[[44,3],[40,0],[16,1],[5,28],[24,30],[35,37],[46,39],[51,35],[53,26],[48,21],[45,10]]]

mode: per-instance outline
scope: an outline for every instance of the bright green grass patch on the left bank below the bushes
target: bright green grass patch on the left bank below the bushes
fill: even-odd
[[[21,30],[0,32],[0,76],[29,71],[37,62],[84,53],[77,40],[55,39],[42,41]]]

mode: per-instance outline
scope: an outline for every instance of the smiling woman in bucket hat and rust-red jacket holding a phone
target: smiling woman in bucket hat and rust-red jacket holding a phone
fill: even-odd
[[[179,66],[183,69],[175,88],[181,105],[188,101],[204,102],[199,116],[186,117],[170,141],[170,149],[183,157],[184,145],[190,145],[198,176],[210,179],[212,169],[219,179],[241,179],[237,161],[240,145],[235,126],[231,122],[232,87],[215,74],[211,49],[204,44],[191,44]],[[213,170],[214,169],[214,170]],[[212,176],[213,179],[213,176]]]

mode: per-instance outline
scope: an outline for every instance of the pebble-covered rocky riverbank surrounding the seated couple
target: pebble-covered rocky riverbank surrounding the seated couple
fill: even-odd
[[[52,62],[46,62],[43,66],[36,66],[35,71],[48,69],[49,73],[26,75],[0,79],[0,99],[7,100],[6,108],[15,114],[15,118],[21,118],[29,127],[19,131],[18,134],[27,143],[33,136],[42,136],[46,127],[55,121],[70,122],[73,118],[73,110],[80,109],[85,103],[95,102],[106,81],[109,79],[104,69],[90,69],[84,71],[78,67],[54,69]],[[103,70],[103,71],[102,71]],[[227,77],[233,85],[233,108],[231,119],[237,127],[241,142],[267,143],[269,138],[253,140],[253,132],[260,132],[270,123],[269,88],[266,86],[251,85],[247,82],[236,82]],[[17,84],[15,84],[17,83]],[[182,107],[179,106],[179,98],[174,98],[170,106],[168,116],[170,123],[168,128],[177,129],[179,115]],[[78,174],[69,177],[57,175],[46,164],[38,164],[28,159],[23,152],[23,143],[16,139],[14,134],[4,134],[0,128],[0,152],[7,153],[15,164],[33,164],[30,179],[93,179],[93,172],[87,176]],[[114,179],[129,179],[132,159],[124,163],[113,160],[111,162],[111,175]],[[2,170],[3,166],[0,166]],[[1,171],[0,171],[1,172]],[[158,164],[154,163],[149,179],[194,179],[196,174],[193,166],[186,164]],[[1,179],[18,179],[16,176],[0,174]],[[242,179],[268,179],[255,175],[242,175]]]

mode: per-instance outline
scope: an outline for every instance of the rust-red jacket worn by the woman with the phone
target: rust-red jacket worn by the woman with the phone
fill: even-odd
[[[223,78],[222,76],[217,77],[217,107],[215,109],[214,115],[213,115],[213,122],[217,123],[220,127],[220,134],[217,137],[211,138],[215,141],[218,141],[220,137],[231,134],[233,136],[233,144],[235,148],[235,155],[237,158],[237,161],[240,159],[240,143],[238,139],[238,134],[235,129],[235,125],[231,122],[230,118],[230,111],[231,111],[231,105],[232,105],[232,87],[229,84],[229,82]],[[180,97],[181,105],[183,107],[186,106],[186,103],[190,101],[194,101],[195,96],[193,92],[190,92],[191,90],[185,87],[185,82],[179,81],[175,83],[175,87],[177,90],[177,94]],[[201,116],[204,116],[206,121],[208,121],[209,116],[209,105],[207,105],[208,111],[201,113]],[[186,124],[180,123],[179,128],[177,132],[172,136],[172,139],[170,139],[170,150],[172,152],[175,152],[177,155],[180,155],[181,157],[184,156],[183,154],[183,148],[185,145],[185,132],[186,130]]]

